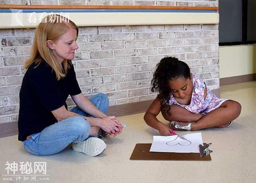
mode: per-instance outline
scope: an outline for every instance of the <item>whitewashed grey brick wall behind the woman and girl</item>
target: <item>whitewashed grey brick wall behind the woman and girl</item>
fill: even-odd
[[[218,6],[218,0],[1,0],[2,4]],[[0,123],[17,121],[19,90],[34,29],[0,30]],[[110,105],[144,101],[164,56],[185,61],[210,89],[219,88],[218,25],[80,27],[73,64],[84,95],[106,93]],[[69,107],[74,103],[68,99]]]

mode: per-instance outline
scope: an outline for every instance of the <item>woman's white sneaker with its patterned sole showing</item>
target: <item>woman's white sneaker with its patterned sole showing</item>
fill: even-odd
[[[89,137],[85,141],[72,143],[72,149],[88,156],[97,156],[106,149],[106,143],[99,138]]]

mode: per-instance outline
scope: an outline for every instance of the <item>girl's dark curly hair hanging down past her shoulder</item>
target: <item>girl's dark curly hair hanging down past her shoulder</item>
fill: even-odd
[[[178,58],[165,57],[156,65],[156,71],[151,80],[151,92],[159,92],[158,98],[160,99],[161,109],[167,111],[168,115],[171,115],[170,105],[168,105],[170,100],[168,81],[180,77],[190,78],[190,68],[185,62],[178,60]]]

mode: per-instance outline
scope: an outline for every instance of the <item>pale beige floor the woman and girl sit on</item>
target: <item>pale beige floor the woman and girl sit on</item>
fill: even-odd
[[[136,143],[151,143],[152,136],[158,135],[144,123],[144,113],[140,113],[118,118],[128,126],[120,136],[106,138],[107,148],[97,157],[88,157],[71,147],[56,155],[40,157],[26,152],[17,135],[1,138],[0,180],[12,177],[10,182],[34,182],[31,181],[32,176],[27,176],[29,180],[26,181],[23,176],[20,176],[20,181],[16,181],[17,176],[3,176],[7,174],[6,161],[28,161],[32,164],[46,162],[47,176],[36,177],[37,182],[43,183],[254,183],[256,82],[222,86],[221,97],[240,102],[242,113],[228,129],[200,131],[204,142],[212,142],[212,161],[131,161],[129,158]],[[179,134],[186,133],[189,132]],[[40,180],[46,178],[48,180]]]

